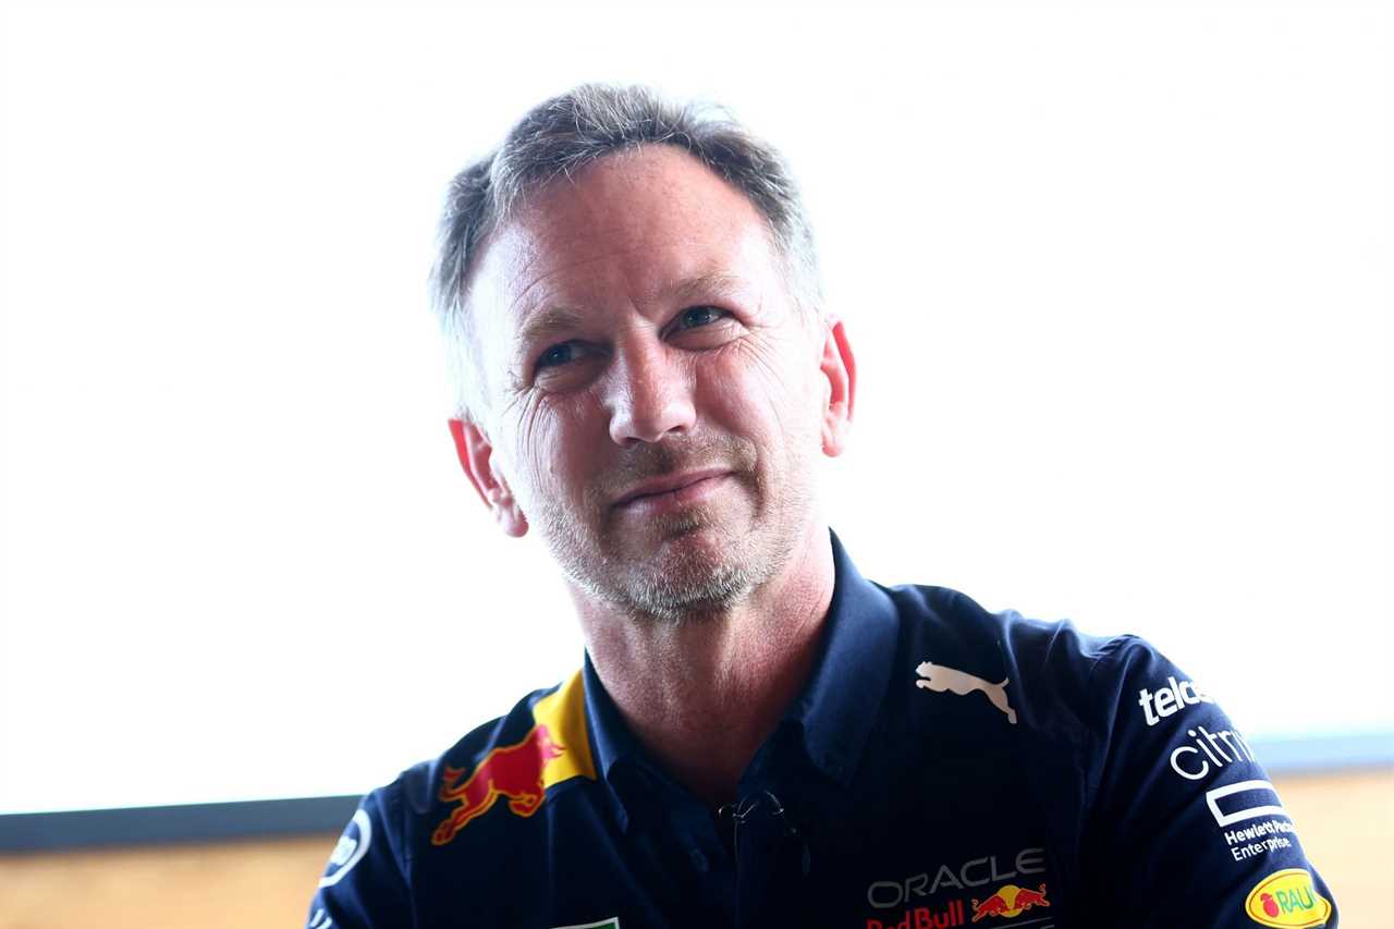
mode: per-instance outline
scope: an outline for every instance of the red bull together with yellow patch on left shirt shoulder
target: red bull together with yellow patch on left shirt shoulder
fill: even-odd
[[[492,749],[468,776],[466,769],[446,764],[436,799],[459,806],[431,833],[431,844],[445,845],[500,798],[514,816],[531,816],[553,784],[572,777],[595,778],[580,674],[538,700],[533,718],[535,725],[520,742]]]

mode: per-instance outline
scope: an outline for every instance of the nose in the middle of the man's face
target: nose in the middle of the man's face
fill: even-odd
[[[631,345],[616,353],[608,372],[605,406],[616,445],[658,442],[697,421],[687,365],[662,345]]]

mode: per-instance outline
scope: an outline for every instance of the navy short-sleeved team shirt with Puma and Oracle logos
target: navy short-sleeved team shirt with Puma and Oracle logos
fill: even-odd
[[[364,798],[309,929],[1331,926],[1249,745],[1133,636],[836,586],[803,695],[710,810],[587,658]]]

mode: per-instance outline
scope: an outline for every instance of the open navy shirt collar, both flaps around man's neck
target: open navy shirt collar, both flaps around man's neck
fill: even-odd
[[[793,724],[804,752],[828,777],[850,787],[891,678],[899,624],[895,604],[852,564],[836,533],[831,533],[834,589],[824,621],[818,657],[800,696],[785,711],[775,735]],[[651,794],[666,778],[629,731],[585,656],[585,714],[597,766],[616,794],[625,824],[625,802]],[[775,738],[772,735],[771,738]],[[767,745],[765,748],[772,748]],[[763,748],[757,763],[767,760]]]

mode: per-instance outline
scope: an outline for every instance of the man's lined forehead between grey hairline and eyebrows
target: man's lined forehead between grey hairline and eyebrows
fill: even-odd
[[[739,190],[669,145],[609,155],[553,181],[484,243],[468,311],[509,342],[548,308],[643,308],[694,283],[782,289],[764,216]]]

